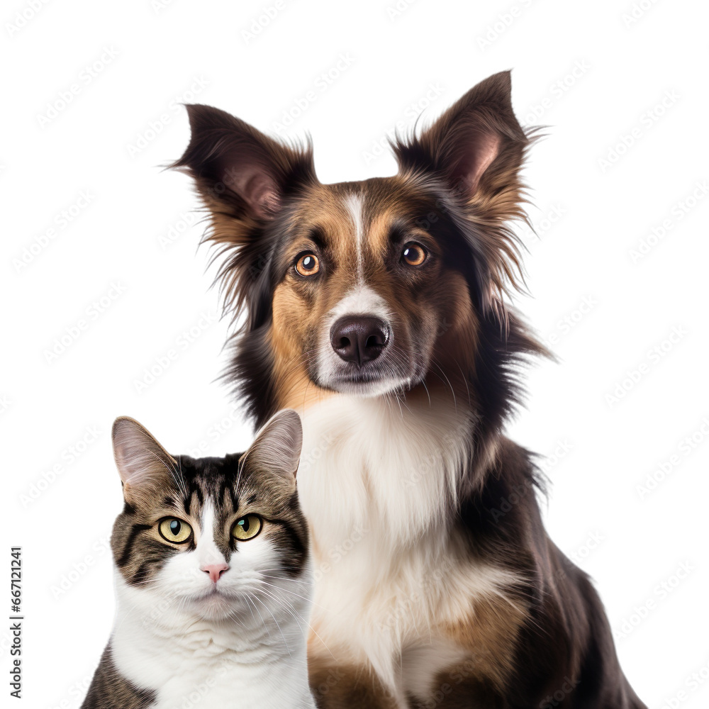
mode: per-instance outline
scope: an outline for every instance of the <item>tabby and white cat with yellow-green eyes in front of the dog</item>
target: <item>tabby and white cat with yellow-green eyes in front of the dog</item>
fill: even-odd
[[[131,418],[112,438],[117,613],[82,709],[314,709],[298,414],[223,458],[173,457]]]

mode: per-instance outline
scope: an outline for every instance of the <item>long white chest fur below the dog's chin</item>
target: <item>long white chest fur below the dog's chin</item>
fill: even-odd
[[[447,511],[472,417],[452,404],[337,395],[303,411],[298,491],[313,531],[311,647],[425,694],[466,657],[437,632],[510,575],[474,566]]]

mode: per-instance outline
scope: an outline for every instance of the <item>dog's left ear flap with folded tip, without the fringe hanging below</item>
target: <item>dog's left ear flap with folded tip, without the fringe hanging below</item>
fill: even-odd
[[[170,167],[194,178],[218,242],[239,242],[278,213],[284,196],[315,178],[310,145],[293,148],[225,111],[186,106],[191,140]]]

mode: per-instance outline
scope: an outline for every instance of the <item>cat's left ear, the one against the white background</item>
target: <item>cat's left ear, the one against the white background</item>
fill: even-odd
[[[117,418],[113,422],[111,439],[126,502],[150,501],[155,494],[172,486],[177,461],[138,421],[128,416]]]

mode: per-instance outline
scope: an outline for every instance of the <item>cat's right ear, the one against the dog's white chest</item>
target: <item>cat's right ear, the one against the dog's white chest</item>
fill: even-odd
[[[293,485],[302,447],[301,417],[292,408],[284,408],[269,418],[243,457],[251,469],[275,473]]]

